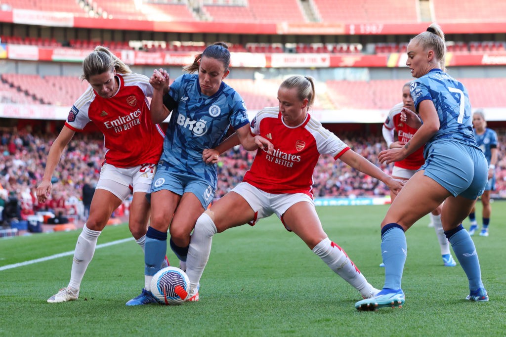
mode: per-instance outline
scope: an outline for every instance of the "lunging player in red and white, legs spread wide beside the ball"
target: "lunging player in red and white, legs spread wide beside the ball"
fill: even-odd
[[[279,87],[279,106],[264,108],[251,121],[251,133],[270,139],[275,150],[269,154],[259,149],[243,182],[198,218],[188,251],[189,301],[198,300],[200,278],[209,258],[213,235],[243,224],[253,226],[272,214],[364,298],[378,291],[367,282],[346,252],[323,231],[311,192],[312,175],[320,155],[329,154],[381,180],[393,191],[399,191],[403,182],[379,170],[312,118],[308,110],[314,99],[313,78],[291,76]]]

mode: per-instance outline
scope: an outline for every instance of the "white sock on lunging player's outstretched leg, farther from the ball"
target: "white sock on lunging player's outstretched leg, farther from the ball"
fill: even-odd
[[[364,275],[355,267],[340,246],[331,242],[327,237],[313,248],[313,252],[336,274],[360,291],[362,296],[370,296],[373,286],[367,282]]]

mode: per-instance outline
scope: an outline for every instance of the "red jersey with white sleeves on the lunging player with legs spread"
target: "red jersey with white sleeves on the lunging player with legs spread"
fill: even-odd
[[[253,134],[271,141],[274,153],[259,149],[243,181],[268,193],[306,193],[313,197],[313,171],[320,155],[338,159],[350,149],[309,114],[302,124],[289,127],[278,107],[261,110],[250,127]]]

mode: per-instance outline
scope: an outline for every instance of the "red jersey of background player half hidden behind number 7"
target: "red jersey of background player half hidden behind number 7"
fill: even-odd
[[[411,128],[405,122],[401,121],[402,107],[403,104],[399,103],[390,110],[387,120],[385,120],[385,128],[388,130],[395,129],[399,143],[406,144],[411,140],[411,138],[413,138],[416,129]],[[424,163],[424,147],[422,146],[405,159],[396,161],[394,166],[406,168],[406,170],[418,170],[418,168],[420,168],[420,166]]]

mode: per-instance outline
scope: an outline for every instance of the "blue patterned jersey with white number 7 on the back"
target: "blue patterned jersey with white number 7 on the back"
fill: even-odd
[[[432,100],[438,112],[440,128],[425,147],[444,140],[478,147],[473,134],[472,111],[467,89],[441,69],[416,78],[409,86],[414,106],[418,111],[421,101]],[[426,156],[427,158],[427,156]]]

